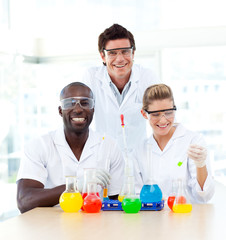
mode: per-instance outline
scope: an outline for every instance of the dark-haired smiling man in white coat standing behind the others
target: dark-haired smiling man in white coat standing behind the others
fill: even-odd
[[[95,126],[98,132],[117,139],[123,148],[120,115],[124,114],[128,150],[146,138],[146,125],[139,114],[147,87],[159,81],[149,70],[133,64],[135,40],[126,28],[114,24],[98,40],[102,67],[87,70],[86,83],[95,98]]]

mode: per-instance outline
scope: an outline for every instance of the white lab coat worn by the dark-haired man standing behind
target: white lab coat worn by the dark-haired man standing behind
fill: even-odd
[[[146,121],[140,113],[144,91],[159,81],[149,69],[133,65],[131,86],[120,106],[110,88],[110,81],[106,66],[88,69],[83,78],[83,82],[94,93],[96,130],[117,139],[123,149],[120,115],[124,114],[127,146],[130,152],[147,137]]]

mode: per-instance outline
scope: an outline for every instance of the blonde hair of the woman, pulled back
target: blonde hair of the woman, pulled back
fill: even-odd
[[[175,105],[173,92],[169,86],[166,84],[152,85],[148,87],[144,92],[142,109],[147,110],[148,105],[152,104],[153,101],[163,99],[170,99],[173,101],[173,105]]]

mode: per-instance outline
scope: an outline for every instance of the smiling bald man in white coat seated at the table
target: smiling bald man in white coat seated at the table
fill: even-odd
[[[61,91],[60,100],[64,126],[34,139],[25,148],[17,177],[17,203],[22,213],[58,204],[65,191],[65,176],[82,181],[84,168],[98,169],[96,182],[102,187],[109,185],[110,199],[117,199],[121,189],[124,161],[117,143],[107,136],[103,140],[89,129],[94,113],[90,88],[71,83]],[[110,167],[104,169],[107,159]]]

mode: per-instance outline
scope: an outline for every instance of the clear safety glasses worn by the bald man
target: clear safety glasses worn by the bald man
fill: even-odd
[[[61,107],[63,110],[72,109],[78,103],[79,106],[83,109],[92,109],[94,108],[94,99],[86,97],[71,97],[65,98],[61,101]]]

